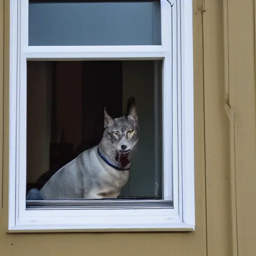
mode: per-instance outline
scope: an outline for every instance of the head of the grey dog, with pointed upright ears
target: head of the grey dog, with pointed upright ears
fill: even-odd
[[[138,141],[138,116],[135,100],[130,97],[127,101],[125,116],[112,118],[104,109],[104,146],[119,154],[130,153]]]

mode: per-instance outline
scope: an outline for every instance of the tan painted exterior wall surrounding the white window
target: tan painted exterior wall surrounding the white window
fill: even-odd
[[[1,255],[254,255],[254,1],[193,7],[196,230],[8,234],[9,1],[0,1]]]

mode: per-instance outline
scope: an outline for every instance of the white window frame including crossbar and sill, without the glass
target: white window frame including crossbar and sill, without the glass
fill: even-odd
[[[161,45],[28,46],[28,0],[10,0],[10,232],[194,230],[192,0],[160,2]],[[163,199],[173,207],[26,209],[27,59],[163,60]]]

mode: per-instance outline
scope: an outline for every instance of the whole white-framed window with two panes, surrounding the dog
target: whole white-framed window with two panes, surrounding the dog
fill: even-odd
[[[194,230],[192,1],[10,2],[9,230]],[[130,96],[139,138],[118,197],[26,197]]]

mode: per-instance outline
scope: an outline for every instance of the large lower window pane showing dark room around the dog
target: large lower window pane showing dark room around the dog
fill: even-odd
[[[121,188],[118,198],[161,199],[160,78],[161,61],[158,60],[28,61],[26,192],[31,188],[40,190],[59,168],[84,150],[97,145],[104,131],[104,107],[113,118],[120,117],[125,114],[128,98],[133,96],[139,139],[131,153],[129,179]],[[129,130],[132,136],[133,130],[125,127],[125,121],[119,124],[121,126],[116,130],[119,134],[103,135],[108,141],[107,147],[117,147],[116,141],[120,141],[122,132],[118,130],[120,127],[123,131]],[[129,148],[132,139],[129,140],[130,135],[125,134],[123,144]],[[107,150],[102,150],[105,158],[108,158]],[[90,173],[86,180],[90,179],[95,189],[100,188],[103,197],[112,198],[111,193],[107,194],[107,189],[104,192],[104,187],[95,178],[97,163],[93,165],[93,157],[86,161],[83,167],[88,168]],[[71,186],[80,190],[76,194],[80,193],[81,197],[44,199],[82,199],[84,192],[79,187],[83,183],[81,179],[83,177],[77,175],[72,179]],[[70,180],[58,182],[62,182],[61,186],[66,190],[70,189]],[[112,186],[115,187],[115,184]],[[31,193],[30,190],[27,200],[36,199],[33,196],[36,196],[36,192]]]

